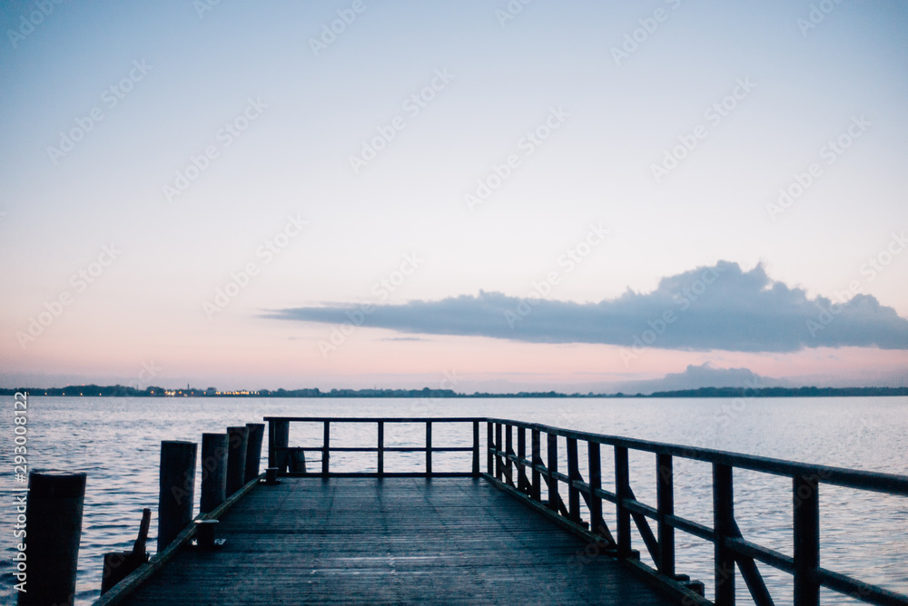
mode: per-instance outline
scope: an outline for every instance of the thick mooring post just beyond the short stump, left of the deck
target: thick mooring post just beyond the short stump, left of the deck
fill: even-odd
[[[194,442],[165,440],[161,443],[158,482],[158,552],[192,522],[195,492]]]

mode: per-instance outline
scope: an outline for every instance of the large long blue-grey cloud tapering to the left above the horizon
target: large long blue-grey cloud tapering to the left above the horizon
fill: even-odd
[[[747,352],[908,349],[908,319],[873,296],[858,294],[845,303],[808,298],[804,289],[770,279],[762,265],[742,271],[727,261],[664,278],[652,292],[628,289],[598,303],[480,291],[399,305],[286,308],[266,317],[531,343]]]

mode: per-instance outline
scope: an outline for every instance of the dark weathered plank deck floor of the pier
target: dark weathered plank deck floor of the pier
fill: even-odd
[[[484,480],[284,478],[219,525],[123,603],[671,603]]]

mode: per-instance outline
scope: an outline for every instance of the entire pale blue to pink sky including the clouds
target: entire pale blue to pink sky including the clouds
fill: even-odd
[[[0,25],[0,386],[908,378],[903,2]]]

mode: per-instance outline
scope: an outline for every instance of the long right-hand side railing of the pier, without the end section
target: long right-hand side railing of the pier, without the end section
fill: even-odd
[[[875,474],[839,467],[802,464],[749,454],[734,454],[707,448],[661,444],[623,437],[590,434],[548,425],[505,419],[487,419],[489,479],[529,501],[539,503],[578,530],[587,530],[604,542],[618,558],[635,558],[631,549],[631,521],[656,562],[656,572],[678,579],[675,572],[675,531],[690,533],[715,546],[714,570],[717,606],[735,604],[735,565],[757,606],[775,604],[756,562],[791,574],[794,578],[795,605],[817,606],[820,588],[825,587],[873,604],[908,604],[908,596],[862,582],[820,566],[821,484],[843,486],[874,493],[908,496],[908,477]],[[515,449],[514,434],[517,433]],[[529,439],[528,439],[529,437]],[[558,469],[559,437],[568,462],[567,474]],[[546,444],[546,459],[542,444]],[[587,445],[587,478],[580,473],[578,443]],[[615,487],[602,485],[600,451],[614,449]],[[630,486],[628,452],[656,454],[656,506],[637,500]],[[688,520],[675,513],[674,461],[690,459],[712,464],[713,525]],[[745,469],[792,480],[794,518],[794,557],[766,548],[742,536],[735,523],[734,470]],[[565,504],[558,484],[568,488]],[[547,495],[542,497],[542,485]],[[581,517],[580,499],[587,504],[587,519]],[[616,533],[609,531],[602,518],[602,502],[616,507]],[[652,520],[656,532],[650,526]]]

